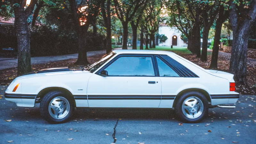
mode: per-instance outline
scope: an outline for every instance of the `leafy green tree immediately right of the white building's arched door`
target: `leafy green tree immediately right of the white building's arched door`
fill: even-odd
[[[203,12],[201,3],[193,0],[165,1],[168,9],[169,20],[167,24],[176,26],[188,38],[188,50],[201,56],[200,52],[200,27],[202,20],[200,15]]]

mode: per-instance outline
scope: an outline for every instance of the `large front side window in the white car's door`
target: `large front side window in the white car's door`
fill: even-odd
[[[155,76],[150,56],[122,56],[104,70],[108,76]]]

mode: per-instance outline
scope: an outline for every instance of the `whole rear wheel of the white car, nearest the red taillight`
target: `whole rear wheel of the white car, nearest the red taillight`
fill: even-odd
[[[198,123],[208,113],[208,101],[200,92],[187,92],[177,101],[175,111],[181,121]]]

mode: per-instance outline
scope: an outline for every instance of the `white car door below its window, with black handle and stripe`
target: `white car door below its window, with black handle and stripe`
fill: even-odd
[[[161,81],[155,76],[93,75],[87,91],[89,107],[158,108]]]

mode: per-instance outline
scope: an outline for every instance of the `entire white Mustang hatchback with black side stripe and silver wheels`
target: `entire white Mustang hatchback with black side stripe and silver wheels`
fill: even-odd
[[[4,93],[19,107],[40,103],[50,123],[75,107],[175,108],[180,120],[201,121],[208,108],[235,108],[232,74],[206,70],[173,52],[114,50],[89,67],[49,68],[15,78]]]

